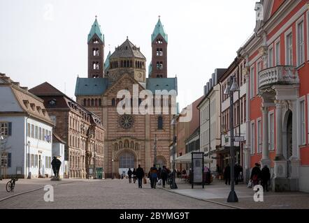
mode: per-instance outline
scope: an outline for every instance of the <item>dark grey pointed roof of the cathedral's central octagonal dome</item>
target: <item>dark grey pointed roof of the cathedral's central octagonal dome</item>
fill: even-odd
[[[131,43],[129,38],[127,38],[120,47],[116,47],[115,52],[113,52],[110,58],[114,57],[136,57],[139,59],[146,59],[141,53],[140,48]]]

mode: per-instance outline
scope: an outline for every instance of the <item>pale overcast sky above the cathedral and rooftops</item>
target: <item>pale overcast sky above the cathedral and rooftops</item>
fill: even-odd
[[[151,61],[158,16],[168,34],[168,77],[178,77],[178,102],[203,95],[215,68],[227,68],[255,26],[256,0],[0,0],[0,72],[31,89],[49,82],[76,99],[87,77],[87,35],[95,16],[105,55],[127,36]],[[148,72],[147,72],[148,73]]]

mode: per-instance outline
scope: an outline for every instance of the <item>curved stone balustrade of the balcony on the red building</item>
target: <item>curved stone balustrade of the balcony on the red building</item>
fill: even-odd
[[[259,72],[259,89],[275,84],[299,84],[299,74],[294,66],[276,66]]]

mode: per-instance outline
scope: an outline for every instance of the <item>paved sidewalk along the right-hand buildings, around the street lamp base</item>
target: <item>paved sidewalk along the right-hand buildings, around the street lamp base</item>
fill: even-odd
[[[225,185],[223,180],[213,180],[210,185],[194,185],[192,189],[189,183],[176,179],[177,190],[171,190],[169,185],[166,188],[158,186],[162,190],[168,190],[183,196],[193,197],[203,201],[220,203],[240,209],[309,209],[309,194],[302,192],[264,192],[264,202],[254,201],[253,189],[248,189],[247,185],[235,185],[238,203],[227,203],[227,197],[231,191],[231,186]]]

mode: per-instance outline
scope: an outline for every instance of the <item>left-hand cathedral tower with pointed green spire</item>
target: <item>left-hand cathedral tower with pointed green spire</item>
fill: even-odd
[[[94,20],[88,35],[88,77],[104,76],[104,35],[97,20]]]

